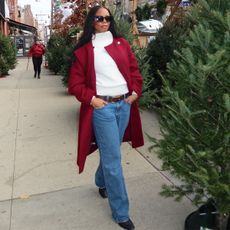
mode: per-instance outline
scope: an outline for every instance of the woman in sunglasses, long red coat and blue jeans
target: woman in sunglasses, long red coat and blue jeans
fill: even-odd
[[[99,194],[109,200],[114,220],[134,229],[121,166],[120,145],[143,145],[137,98],[142,77],[128,42],[117,35],[108,9],[93,7],[74,51],[69,93],[81,102],[78,159],[80,173],[88,154],[97,147],[100,163],[95,173]]]

